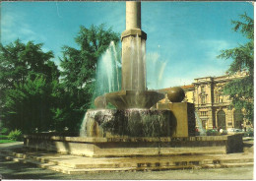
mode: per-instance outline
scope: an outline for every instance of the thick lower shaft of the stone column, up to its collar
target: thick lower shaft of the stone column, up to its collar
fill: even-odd
[[[146,91],[146,39],[140,29],[125,30],[122,40],[122,90]]]

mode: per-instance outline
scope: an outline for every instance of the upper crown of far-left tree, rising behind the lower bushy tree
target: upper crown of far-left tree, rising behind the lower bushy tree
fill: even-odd
[[[29,41],[22,43],[20,39],[6,46],[0,44],[0,89],[14,88],[15,83],[24,83],[28,76],[35,79],[42,75],[47,81],[58,79],[57,66],[50,61],[52,51],[43,52],[42,43]]]

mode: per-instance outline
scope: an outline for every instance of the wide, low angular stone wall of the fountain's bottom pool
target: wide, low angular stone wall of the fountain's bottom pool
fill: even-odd
[[[187,138],[83,138],[34,134],[24,137],[24,146],[36,151],[56,151],[90,157],[145,156],[147,159],[152,156],[161,159],[164,155],[191,155],[193,157],[196,154],[223,154],[225,156],[225,153],[243,150],[242,134]],[[207,158],[211,159],[211,156]]]

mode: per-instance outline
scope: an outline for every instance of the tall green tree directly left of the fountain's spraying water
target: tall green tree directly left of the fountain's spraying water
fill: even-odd
[[[66,111],[72,115],[68,116],[68,122],[74,125],[70,125],[72,130],[80,127],[82,118],[91,105],[95,91],[97,59],[111,41],[119,41],[119,35],[111,29],[105,30],[104,25],[91,26],[89,29],[81,26],[75,41],[79,49],[64,46],[60,64],[63,69],[63,85],[68,93],[63,104],[68,106]]]

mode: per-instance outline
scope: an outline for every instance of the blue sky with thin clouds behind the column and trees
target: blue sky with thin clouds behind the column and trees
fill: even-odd
[[[142,30],[148,34],[148,57],[165,63],[159,88],[183,86],[195,78],[224,75],[231,60],[217,59],[222,49],[246,42],[232,31],[231,20],[247,13],[248,2],[142,2]],[[58,64],[61,47],[76,47],[74,37],[83,25],[105,24],[125,30],[125,2],[2,2],[1,41],[18,37],[42,42]],[[148,65],[150,66],[150,65]]]

